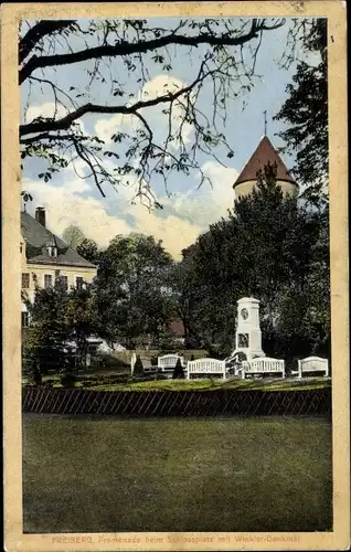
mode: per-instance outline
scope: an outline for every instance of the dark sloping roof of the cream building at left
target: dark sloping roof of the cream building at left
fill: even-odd
[[[83,258],[68,247],[60,237],[35,221],[29,213],[21,212],[21,232],[25,240],[28,263],[41,265],[66,265],[96,268],[93,263]],[[57,256],[50,257],[47,246],[57,247]]]

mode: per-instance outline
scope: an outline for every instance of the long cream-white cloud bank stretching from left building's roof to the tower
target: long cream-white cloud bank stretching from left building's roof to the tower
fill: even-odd
[[[33,213],[38,205],[44,206],[47,225],[57,235],[73,224],[86,237],[106,247],[118,234],[138,232],[161,240],[164,248],[179,259],[181,251],[194,243],[209,224],[225,216],[233,205],[232,184],[237,171],[214,161],[205,162],[202,170],[212,179],[213,188],[203,184],[196,190],[192,185],[173,199],[161,195],[158,198],[164,205],[161,212],[132,204],[132,185],[118,187],[118,193],[111,187],[106,188],[106,198],[97,197],[94,183],[79,179],[72,169],[62,171],[62,182],[23,179],[23,189],[34,198],[28,211]]]

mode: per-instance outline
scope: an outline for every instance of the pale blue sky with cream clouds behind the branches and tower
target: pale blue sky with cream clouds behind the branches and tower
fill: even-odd
[[[173,18],[153,19],[151,24],[167,26],[174,24]],[[264,115],[267,110],[268,127],[267,135],[274,146],[281,147],[284,144],[275,136],[284,127],[272,118],[287,98],[286,86],[291,82],[296,64],[289,68],[281,68],[278,61],[285,50],[287,32],[290,22],[275,31],[264,34],[260,49],[256,60],[256,74],[260,78],[255,81],[255,86],[245,96],[240,95],[235,100],[228,103],[228,116],[224,129],[227,141],[234,152],[228,159],[224,149],[217,149],[216,156],[226,167],[223,167],[210,155],[202,155],[199,163],[202,171],[211,178],[211,184],[204,183],[199,188],[200,173],[193,171],[189,177],[177,173],[170,178],[169,194],[164,190],[163,181],[155,178],[152,188],[158,201],[163,205],[162,210],[149,211],[145,205],[132,202],[132,190],[128,187],[104,188],[106,198],[99,193],[92,178],[82,179],[77,174],[85,174],[83,162],[75,163],[55,174],[50,182],[44,182],[38,174],[44,168],[39,159],[31,158],[24,161],[22,174],[22,188],[33,195],[33,201],[26,205],[26,211],[34,214],[35,208],[42,205],[46,210],[46,224],[52,232],[62,235],[68,225],[77,225],[88,238],[95,240],[100,247],[106,247],[109,241],[117,234],[129,234],[137,232],[153,235],[161,240],[163,246],[174,258],[180,258],[181,250],[194,243],[200,233],[205,232],[211,223],[226,216],[227,210],[232,209],[234,201],[233,183],[256,149],[259,139],[264,135]],[[93,41],[94,39],[91,39]],[[89,42],[89,45],[93,42]],[[72,44],[74,49],[84,47],[82,43]],[[61,46],[59,46],[61,47]],[[62,49],[64,50],[64,45]],[[146,59],[149,68],[148,83],[140,89],[136,83],[127,81],[123,73],[123,66],[117,61],[114,71],[119,78],[125,78],[125,92],[131,98],[149,98],[162,93],[164,86],[187,85],[193,79],[194,72],[201,62],[203,50],[198,49],[190,59],[184,47],[177,47],[172,52],[173,68],[170,74],[164,75],[160,66]],[[302,53],[298,52],[301,57]],[[119,65],[118,65],[119,63]],[[92,64],[92,62],[91,62]],[[89,65],[91,67],[92,65]],[[56,70],[47,70],[45,78],[60,83],[61,88],[70,91],[71,86],[83,86],[86,81],[86,63],[62,66]],[[104,71],[104,68],[103,68]],[[43,76],[39,71],[34,76]],[[200,106],[204,113],[212,112],[211,91],[205,85],[199,98]],[[38,116],[52,116],[54,110],[53,96],[50,86],[36,87],[29,95],[29,87],[22,88],[22,120],[30,121]],[[109,86],[93,83],[87,93],[84,92],[82,103],[87,100],[99,104],[118,102],[111,98]],[[210,104],[210,105],[209,105]],[[150,117],[155,132],[159,138],[164,136],[167,120],[161,109],[153,108]],[[131,117],[120,115],[89,115],[84,116],[79,124],[84,129],[105,139],[107,145],[110,136],[116,129],[124,130],[135,128]],[[191,140],[191,129],[185,139]],[[284,157],[288,168],[294,159]],[[110,166],[113,162],[107,161]]]

